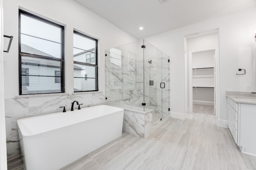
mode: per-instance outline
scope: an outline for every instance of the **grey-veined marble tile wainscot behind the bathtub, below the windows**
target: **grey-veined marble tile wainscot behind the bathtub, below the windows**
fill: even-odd
[[[17,127],[18,119],[60,112],[63,109],[59,108],[61,106],[66,106],[66,110],[70,110],[71,103],[74,100],[78,101],[79,104],[83,104],[80,107],[105,104],[105,94],[90,93],[5,99],[6,143],[8,156],[20,153]],[[74,109],[77,108],[78,106],[75,105]]]

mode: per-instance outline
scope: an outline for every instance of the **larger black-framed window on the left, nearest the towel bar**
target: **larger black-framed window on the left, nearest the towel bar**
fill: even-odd
[[[64,27],[19,10],[20,95],[64,92]]]

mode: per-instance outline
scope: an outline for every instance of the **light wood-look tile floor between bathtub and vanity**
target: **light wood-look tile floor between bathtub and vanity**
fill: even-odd
[[[166,119],[148,139],[124,133],[62,170],[256,170],[215,115]]]

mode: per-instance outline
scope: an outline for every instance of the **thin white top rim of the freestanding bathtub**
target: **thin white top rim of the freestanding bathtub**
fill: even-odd
[[[92,108],[92,107],[104,106],[104,105],[105,105],[105,104],[96,105],[96,106],[89,106],[89,107]],[[82,109],[86,109],[86,108],[89,108],[89,107],[83,107]],[[114,106],[112,106],[112,107],[114,107]],[[109,114],[116,113],[116,112],[119,112],[119,111],[124,111],[123,108],[120,108],[120,107],[117,107],[117,108],[120,109],[120,110],[115,111],[115,112],[111,112],[111,113],[109,113]],[[82,109],[81,109],[81,110],[82,110]],[[66,111],[66,112],[70,112],[70,110],[69,110],[69,111]],[[124,113],[124,112],[123,112],[123,113]],[[22,118],[22,119],[18,119],[18,120],[17,120],[18,131],[20,131],[20,134],[22,135],[22,137],[29,137],[29,136],[34,136],[34,135],[38,135],[38,134],[41,134],[41,133],[46,133],[46,132],[48,132],[48,131],[52,131],[52,130],[55,130],[55,129],[60,129],[60,128],[62,128],[62,127],[67,127],[67,126],[70,126],[70,125],[73,125],[73,124],[76,124],[76,123],[81,123],[81,122],[85,121],[85,120],[78,121],[78,122],[76,122],[76,123],[71,123],[71,124],[68,124],[68,125],[65,125],[65,126],[60,126],[60,127],[57,127],[57,128],[53,128],[53,129],[47,130],[47,131],[42,131],[42,132],[40,132],[40,133],[34,133],[34,134],[30,134],[30,135],[24,135],[24,133],[22,133],[22,130],[20,129],[20,126],[19,126],[19,122],[20,122],[20,121],[22,121],[22,120],[24,120],[24,119],[33,119],[33,118],[36,118],[36,117],[44,117],[44,116],[55,115],[55,114],[66,114],[66,113],[63,113],[63,112],[56,112],[56,113],[50,113],[50,114],[45,114],[45,115],[31,116],[31,117],[25,117],[25,118]],[[106,114],[106,115],[108,115],[108,114]],[[102,116],[106,116],[106,115],[101,115],[101,116],[98,116],[98,117],[102,117]],[[95,119],[95,118],[98,118],[98,117],[93,117],[93,118],[87,119],[86,121],[91,120],[91,119]]]

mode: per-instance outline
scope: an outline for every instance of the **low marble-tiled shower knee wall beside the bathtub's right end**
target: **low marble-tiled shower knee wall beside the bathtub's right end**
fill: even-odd
[[[147,138],[152,133],[152,113],[138,113],[124,110],[123,131]]]

